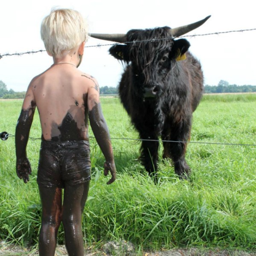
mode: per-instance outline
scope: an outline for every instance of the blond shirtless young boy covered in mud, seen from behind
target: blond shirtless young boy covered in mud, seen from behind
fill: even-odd
[[[84,255],[81,219],[90,183],[88,119],[106,160],[104,175],[112,175],[107,184],[116,179],[99,85],[92,76],[77,69],[87,37],[87,24],[79,12],[55,9],[44,18],[41,38],[53,64],[30,82],[17,122],[16,171],[27,183],[31,168],[26,145],[38,108],[42,129],[37,177],[42,204],[40,256],[54,255],[61,221],[69,255]]]

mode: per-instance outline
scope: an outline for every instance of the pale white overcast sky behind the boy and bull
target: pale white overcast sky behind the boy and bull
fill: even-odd
[[[177,27],[212,17],[187,35],[256,28],[251,0],[15,0],[0,4],[0,54],[44,49],[40,38],[42,19],[54,6],[76,9],[87,18],[91,33],[126,33],[130,29]],[[195,36],[190,51],[201,61],[205,84],[256,85],[256,30]],[[108,54],[111,44],[89,38],[79,67],[96,77],[99,85],[116,87],[122,64]],[[31,79],[52,64],[46,52],[0,59],[0,80],[15,91],[26,90]]]

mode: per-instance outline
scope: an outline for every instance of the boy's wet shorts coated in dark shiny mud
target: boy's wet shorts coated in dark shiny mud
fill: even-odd
[[[89,142],[42,141],[38,163],[38,186],[64,188],[90,180]]]

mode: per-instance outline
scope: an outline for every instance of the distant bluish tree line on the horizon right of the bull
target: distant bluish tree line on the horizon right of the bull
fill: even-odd
[[[218,85],[205,85],[204,93],[255,93],[256,85],[229,84],[221,80]]]

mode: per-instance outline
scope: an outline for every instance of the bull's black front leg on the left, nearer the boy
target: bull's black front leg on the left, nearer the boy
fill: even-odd
[[[145,134],[140,134],[140,139],[142,139],[140,148],[140,160],[143,166],[154,180],[157,180],[157,160],[158,160],[158,147],[159,142],[157,136],[145,136]],[[153,141],[152,141],[153,140]]]

